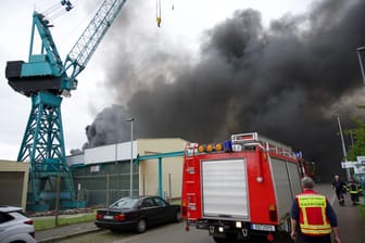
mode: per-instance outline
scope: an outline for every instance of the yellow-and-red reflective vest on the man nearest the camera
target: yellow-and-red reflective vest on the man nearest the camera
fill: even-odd
[[[326,215],[326,196],[311,191],[298,194],[295,200],[299,206],[299,226],[303,234],[319,236],[331,232]]]

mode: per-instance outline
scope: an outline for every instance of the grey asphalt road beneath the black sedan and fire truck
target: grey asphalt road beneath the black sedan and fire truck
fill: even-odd
[[[345,197],[345,206],[340,207],[338,205],[333,190],[329,184],[318,184],[315,188],[319,193],[325,194],[329,202],[333,205],[333,208],[338,216],[339,231],[342,243],[363,243],[365,239],[365,221],[360,218],[360,212],[356,206],[351,205],[349,195]],[[362,199],[362,204],[364,201]],[[92,225],[92,223],[89,223]],[[78,225],[73,228],[85,228],[86,226]],[[81,229],[80,229],[81,230]],[[55,235],[54,230],[48,232],[51,235]],[[67,233],[67,232],[64,232]],[[40,236],[40,235],[39,235]],[[36,232],[37,238],[37,232]],[[150,243],[150,242],[166,242],[166,243],[213,243],[207,231],[197,230],[192,227],[190,231],[185,230],[185,223],[171,223],[149,229],[142,234],[136,233],[113,233],[109,230],[102,230],[97,232],[88,232],[81,235],[72,236],[68,239],[48,241],[48,242],[61,242],[61,243]],[[259,243],[257,240],[253,241]]]

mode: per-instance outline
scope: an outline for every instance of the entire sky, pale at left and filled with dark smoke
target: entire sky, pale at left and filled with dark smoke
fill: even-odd
[[[66,56],[101,1],[71,1],[50,16]],[[356,47],[361,0],[128,0],[98,47],[78,88],[62,103],[67,154],[135,138],[211,142],[257,131],[301,150],[324,171],[339,170],[343,128],[364,103]],[[32,13],[59,1],[5,1],[0,69],[27,60]],[[14,14],[15,13],[15,14]],[[15,159],[30,100],[0,73],[0,158]],[[86,130],[86,127],[88,129]],[[347,140],[348,142],[349,140]]]

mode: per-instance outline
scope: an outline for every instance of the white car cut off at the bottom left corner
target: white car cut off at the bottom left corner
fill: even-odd
[[[33,220],[23,208],[0,206],[0,242],[36,243]]]

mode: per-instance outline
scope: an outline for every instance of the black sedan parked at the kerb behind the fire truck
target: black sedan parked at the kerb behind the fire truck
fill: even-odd
[[[160,196],[122,197],[108,208],[97,212],[96,226],[112,231],[135,230],[142,233],[148,227],[180,221],[180,206]]]

